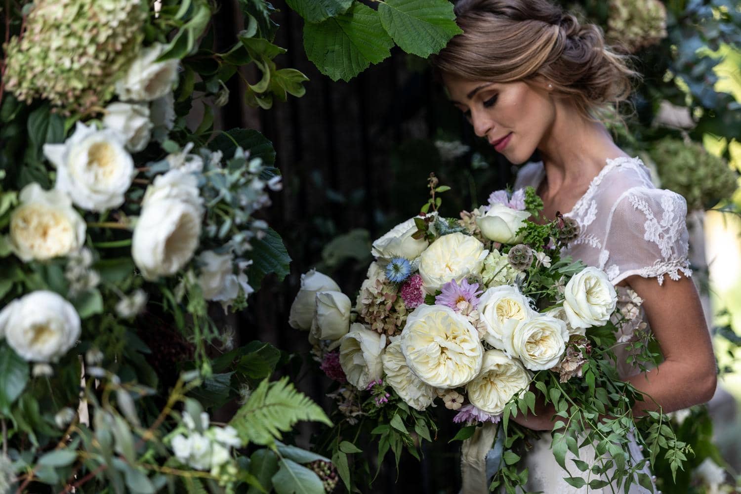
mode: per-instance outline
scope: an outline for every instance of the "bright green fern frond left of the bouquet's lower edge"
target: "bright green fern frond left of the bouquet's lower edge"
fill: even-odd
[[[253,391],[247,403],[237,411],[230,425],[244,441],[270,444],[282,438],[301,420],[319,421],[332,425],[327,415],[308,396],[299,393],[288,377],[273,383],[266,379]]]

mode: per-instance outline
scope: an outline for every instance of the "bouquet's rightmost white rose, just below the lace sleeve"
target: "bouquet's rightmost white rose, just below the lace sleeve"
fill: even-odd
[[[617,304],[615,287],[604,271],[586,267],[566,284],[563,309],[571,327],[602,326]]]

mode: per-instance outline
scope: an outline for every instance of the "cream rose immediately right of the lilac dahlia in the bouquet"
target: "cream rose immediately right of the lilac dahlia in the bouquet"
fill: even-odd
[[[486,327],[484,340],[499,350],[508,350],[506,341],[522,321],[538,316],[530,307],[530,299],[511,285],[492,287],[479,299],[479,314]]]

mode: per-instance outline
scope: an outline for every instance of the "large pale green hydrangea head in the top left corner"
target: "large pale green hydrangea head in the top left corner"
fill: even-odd
[[[93,113],[142,44],[143,0],[38,0],[6,46],[5,87],[29,103]]]

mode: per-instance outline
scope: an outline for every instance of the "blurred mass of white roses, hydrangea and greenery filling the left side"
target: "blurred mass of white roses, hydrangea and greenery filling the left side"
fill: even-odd
[[[290,263],[255,217],[282,188],[272,144],[213,130],[244,64],[262,71],[248,103],[303,94],[305,76],[273,62],[270,4],[242,7],[247,29],[217,53],[202,0],[5,4],[2,493],[336,483],[329,458],[281,442],[298,421],[331,425],[288,378],[269,380],[287,356],[235,347],[210,316]],[[186,126],[194,92],[205,112]],[[216,421],[229,402],[239,410]]]

